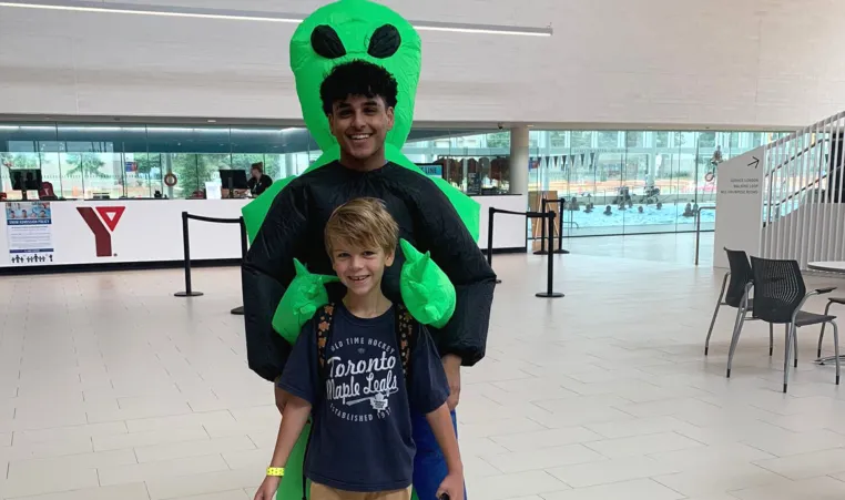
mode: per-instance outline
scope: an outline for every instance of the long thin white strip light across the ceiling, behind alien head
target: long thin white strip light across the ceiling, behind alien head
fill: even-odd
[[[170,18],[220,19],[230,21],[258,21],[296,23],[303,21],[301,14],[263,11],[221,10],[175,6],[104,3],[94,1],[72,0],[7,0],[0,1],[0,7],[18,7],[24,9],[64,10],[75,12],[100,12],[119,14],[161,16]],[[448,31],[474,34],[506,34],[522,37],[551,37],[552,29],[493,24],[465,24],[436,21],[410,21],[419,31]]]

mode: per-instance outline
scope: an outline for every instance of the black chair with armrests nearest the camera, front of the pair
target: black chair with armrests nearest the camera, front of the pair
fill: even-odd
[[[797,329],[803,326],[829,323],[833,326],[833,345],[836,353],[836,385],[839,384],[839,331],[836,317],[801,310],[807,299],[814,295],[829,294],[835,287],[818,288],[807,293],[801,266],[796,261],[774,261],[751,257],[751,268],[754,274],[754,303],[752,314],[755,319],[770,325],[784,325],[786,344],[783,360],[783,391],[786,392],[790,382],[790,350],[795,349],[795,366],[798,366]],[[731,351],[727,355],[727,376],[731,376],[731,365],[736,344],[740,340],[740,327],[734,330],[731,339]]]

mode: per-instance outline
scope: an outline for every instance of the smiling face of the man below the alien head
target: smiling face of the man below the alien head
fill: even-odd
[[[328,123],[340,150],[356,160],[367,160],[384,147],[394,127],[394,109],[380,96],[350,95],[334,103]]]

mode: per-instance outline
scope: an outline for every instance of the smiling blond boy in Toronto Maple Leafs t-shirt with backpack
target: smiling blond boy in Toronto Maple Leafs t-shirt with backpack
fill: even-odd
[[[396,221],[374,198],[339,206],[326,223],[326,249],[346,295],[305,325],[287,359],[278,387],[289,396],[255,500],[274,498],[309,416],[312,500],[409,500],[411,407],[425,415],[446,459],[437,498],[464,499],[442,363],[426,328],[381,293],[398,238]]]

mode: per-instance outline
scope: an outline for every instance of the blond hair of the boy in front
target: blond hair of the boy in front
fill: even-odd
[[[355,198],[335,208],[326,223],[324,238],[332,259],[333,243],[337,242],[391,254],[399,241],[399,225],[380,200]]]

